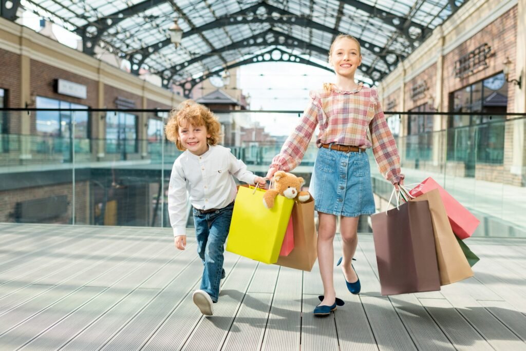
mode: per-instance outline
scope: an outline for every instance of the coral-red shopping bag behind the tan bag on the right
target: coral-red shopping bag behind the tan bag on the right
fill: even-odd
[[[425,179],[409,193],[414,197],[418,197],[433,189],[438,189],[440,193],[444,207],[446,207],[446,213],[448,214],[449,223],[451,224],[453,233],[455,233],[459,239],[469,238],[477,229],[480,221],[476,216],[463,207],[460,202],[453,199],[453,197],[436,181],[434,181],[433,178],[429,177]]]

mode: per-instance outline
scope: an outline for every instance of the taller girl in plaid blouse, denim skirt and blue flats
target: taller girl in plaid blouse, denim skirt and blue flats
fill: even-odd
[[[329,315],[342,305],[332,280],[337,216],[343,242],[341,264],[348,290],[360,292],[360,280],[352,257],[358,245],[358,218],[375,213],[369,160],[365,149],[372,148],[380,172],[396,188],[403,184],[400,157],[376,89],[356,84],[361,64],[358,40],[340,34],[331,44],[329,63],[336,73],[336,84],[324,84],[322,91],[311,91],[311,101],[298,126],[272,159],[267,178],[277,170],[290,171],[303,158],[311,136],[319,125],[319,148],[312,172],[311,192],[319,215],[318,262],[324,295],[315,315]]]

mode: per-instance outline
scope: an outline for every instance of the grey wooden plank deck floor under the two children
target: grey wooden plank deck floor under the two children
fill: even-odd
[[[196,244],[169,229],[0,224],[1,350],[526,350],[526,240],[469,239],[475,277],[440,292],[382,297],[369,234],[362,293],[326,318],[310,273],[230,253],[212,317],[191,301]],[[335,241],[336,250],[339,241]]]

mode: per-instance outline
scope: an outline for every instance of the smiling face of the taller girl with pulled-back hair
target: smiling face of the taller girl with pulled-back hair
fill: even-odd
[[[340,38],[334,43],[329,62],[337,75],[354,78],[361,65],[360,47],[354,40]]]

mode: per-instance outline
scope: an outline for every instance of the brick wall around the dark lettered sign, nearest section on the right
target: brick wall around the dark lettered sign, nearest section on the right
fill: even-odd
[[[494,51],[494,55],[488,59],[488,67],[463,78],[456,78],[454,74],[455,61],[468,54],[478,46],[488,43]],[[502,63],[509,57],[515,71],[515,54],[517,45],[517,6],[500,16],[479,33],[475,34],[466,42],[450,51],[444,56],[443,69],[444,81],[442,90],[442,108],[449,111],[449,93],[471,85],[479,80],[490,77],[502,71]],[[523,45],[523,44],[522,44]],[[510,78],[514,78],[511,77]],[[508,112],[513,111],[514,89],[508,85]]]

